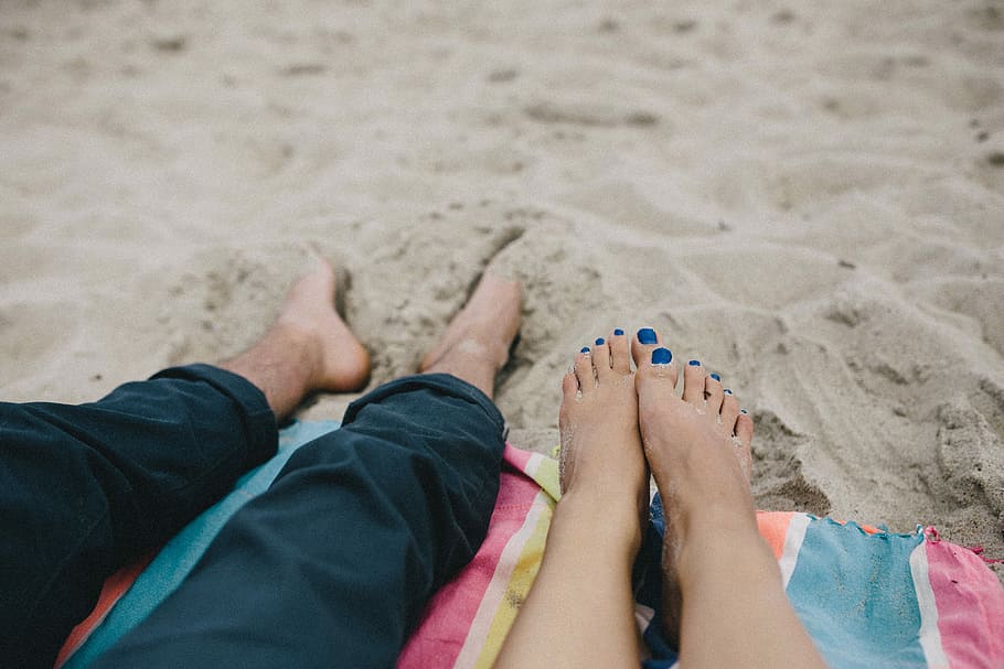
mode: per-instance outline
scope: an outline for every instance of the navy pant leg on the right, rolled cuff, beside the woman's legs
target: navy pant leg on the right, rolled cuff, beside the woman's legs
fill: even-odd
[[[399,379],[301,446],[99,667],[393,667],[477,552],[503,421],[447,375]]]

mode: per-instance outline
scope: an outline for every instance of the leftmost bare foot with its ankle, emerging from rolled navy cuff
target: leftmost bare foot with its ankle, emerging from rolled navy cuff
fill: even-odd
[[[370,354],[334,310],[331,266],[318,258],[290,289],[265,336],[221,367],[257,386],[279,420],[309,392],[361,388],[370,376]]]

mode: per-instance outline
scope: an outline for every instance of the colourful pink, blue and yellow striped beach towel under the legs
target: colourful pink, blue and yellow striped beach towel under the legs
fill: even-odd
[[[106,583],[95,612],[57,661],[86,667],[142,621],[184,579],[229,516],[268,488],[290,454],[334,422],[280,434],[275,458],[200,516],[156,557]],[[488,536],[471,563],[430,602],[398,666],[491,667],[536,576],[554,505],[557,463],[506,445]],[[890,533],[799,512],[758,514],[788,595],[831,667],[1004,667],[1004,589],[973,551],[932,528]],[[672,667],[660,634],[659,497],[634,569],[644,667]],[[723,606],[727,606],[723,602]]]

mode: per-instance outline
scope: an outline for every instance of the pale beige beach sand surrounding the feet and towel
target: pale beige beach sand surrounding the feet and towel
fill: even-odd
[[[758,421],[761,507],[1004,558],[1004,4],[260,4],[0,7],[0,398],[239,352],[305,244],[375,385],[501,251],[515,443],[655,325]]]

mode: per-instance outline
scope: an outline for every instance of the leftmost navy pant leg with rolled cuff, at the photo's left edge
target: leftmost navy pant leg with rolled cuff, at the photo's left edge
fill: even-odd
[[[276,447],[265,396],[206,365],[89,404],[0,403],[0,665],[51,668],[105,579]]]

